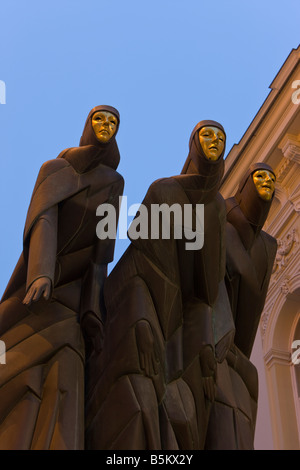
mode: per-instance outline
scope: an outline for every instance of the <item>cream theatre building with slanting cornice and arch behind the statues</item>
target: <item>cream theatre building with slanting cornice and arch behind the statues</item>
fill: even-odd
[[[300,46],[270,85],[265,102],[225,160],[221,187],[235,193],[252,163],[276,173],[264,230],[278,251],[252,362],[259,373],[256,449],[300,449]],[[297,357],[299,349],[299,358]]]

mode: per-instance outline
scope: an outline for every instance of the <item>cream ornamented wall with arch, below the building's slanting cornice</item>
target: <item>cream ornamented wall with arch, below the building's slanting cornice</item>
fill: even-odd
[[[277,196],[266,225],[277,238],[278,250],[260,327],[274,446],[300,449],[299,398],[291,361],[300,317],[300,127],[297,135],[285,133],[278,148]]]

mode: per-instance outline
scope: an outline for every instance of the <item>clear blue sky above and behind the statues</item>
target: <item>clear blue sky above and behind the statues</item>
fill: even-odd
[[[178,174],[194,125],[238,142],[299,44],[299,0],[2,0],[0,295],[41,164],[78,145],[98,104],[121,114],[128,203]],[[115,261],[127,242],[117,241]]]

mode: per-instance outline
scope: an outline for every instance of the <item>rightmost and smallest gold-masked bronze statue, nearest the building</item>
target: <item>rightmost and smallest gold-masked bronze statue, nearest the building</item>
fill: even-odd
[[[226,200],[226,287],[235,323],[234,344],[218,364],[207,449],[253,449],[258,378],[250,362],[276,255],[276,240],[262,230],[275,190],[265,163],[251,165]]]

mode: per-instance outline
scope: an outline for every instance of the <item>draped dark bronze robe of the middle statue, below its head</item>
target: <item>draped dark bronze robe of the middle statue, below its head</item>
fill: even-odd
[[[210,403],[199,352],[215,347],[214,307],[225,275],[225,203],[218,193],[223,161],[197,158],[195,174],[157,180],[143,205],[150,234],[151,205],[177,203],[183,213],[184,205],[192,204],[195,216],[196,204],[204,203],[204,247],[186,250],[190,240],[174,238],[171,219],[170,239],[131,237],[105,283],[102,372],[87,423],[91,449],[204,446]],[[232,323],[224,326],[218,339],[232,332]]]

